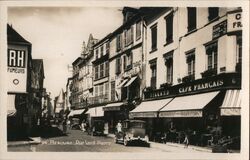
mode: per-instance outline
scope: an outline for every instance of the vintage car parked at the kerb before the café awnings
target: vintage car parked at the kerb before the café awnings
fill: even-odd
[[[144,142],[149,145],[146,135],[146,123],[142,120],[125,120],[122,123],[122,131],[116,132],[115,143],[122,142],[125,146],[132,141]]]

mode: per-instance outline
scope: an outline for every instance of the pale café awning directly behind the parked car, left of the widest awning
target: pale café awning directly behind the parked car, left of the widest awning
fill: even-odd
[[[173,98],[144,101],[129,113],[131,118],[134,117],[157,117],[157,112],[166,106]]]

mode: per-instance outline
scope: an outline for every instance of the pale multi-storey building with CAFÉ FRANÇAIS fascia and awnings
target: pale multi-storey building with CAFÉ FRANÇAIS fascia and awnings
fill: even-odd
[[[173,7],[146,21],[147,88],[130,116],[153,133],[239,137],[241,9]]]

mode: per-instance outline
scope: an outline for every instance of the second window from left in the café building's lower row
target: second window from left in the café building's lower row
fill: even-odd
[[[173,51],[168,52],[165,55],[165,65],[166,65],[166,72],[167,72],[167,83],[172,84],[173,83]]]

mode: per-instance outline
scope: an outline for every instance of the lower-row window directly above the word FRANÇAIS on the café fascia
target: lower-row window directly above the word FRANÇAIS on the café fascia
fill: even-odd
[[[212,70],[215,69],[217,71],[217,42],[211,43],[206,46],[207,53],[207,69]]]

